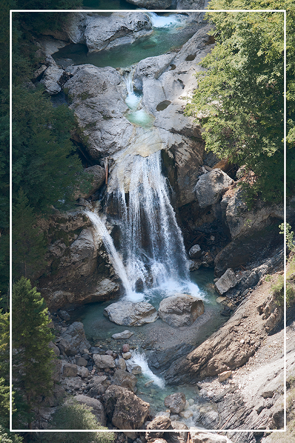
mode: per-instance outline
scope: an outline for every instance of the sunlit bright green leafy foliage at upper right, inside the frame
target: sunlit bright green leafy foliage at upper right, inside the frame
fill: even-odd
[[[265,2],[261,3],[255,3],[255,9],[265,7]],[[245,2],[243,7],[247,6],[251,9],[251,2]],[[209,4],[212,9],[240,7],[235,0],[212,0]],[[283,13],[206,15],[214,25],[216,45],[201,62],[208,71],[206,75],[198,74],[198,89],[187,105],[187,113],[204,127],[207,150],[246,165],[255,173],[255,180],[245,188],[248,196],[280,201],[284,148]]]

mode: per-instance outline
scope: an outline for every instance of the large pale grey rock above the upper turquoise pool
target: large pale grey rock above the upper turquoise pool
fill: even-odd
[[[89,52],[99,52],[114,46],[133,43],[152,32],[145,12],[113,12],[105,17],[95,12],[70,14],[66,27],[73,43],[86,44]]]

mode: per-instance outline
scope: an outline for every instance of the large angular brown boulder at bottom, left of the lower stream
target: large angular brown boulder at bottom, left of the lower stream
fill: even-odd
[[[118,429],[142,429],[149,404],[121,386],[109,386],[103,395],[109,420]]]

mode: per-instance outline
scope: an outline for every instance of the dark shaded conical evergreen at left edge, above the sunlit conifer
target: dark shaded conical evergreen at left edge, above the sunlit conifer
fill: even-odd
[[[45,239],[36,227],[36,216],[22,189],[15,199],[12,216],[13,277],[31,278],[44,267]]]

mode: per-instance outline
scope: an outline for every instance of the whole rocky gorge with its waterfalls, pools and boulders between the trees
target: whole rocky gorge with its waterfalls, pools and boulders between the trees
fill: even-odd
[[[216,442],[254,443],[283,426],[282,342],[271,396],[263,379],[252,397],[243,391],[237,369],[251,367],[270,334],[282,340],[267,276],[283,269],[283,205],[261,199],[248,209],[238,185],[249,175],[206,152],[203,129],[184,112],[214,47],[202,20],[71,12],[64,40],[38,36],[34,83],[73,110],[91,181],[72,209],[39,222],[49,247],[38,290],[58,331],[52,408],[65,392],[95,400],[100,422],[138,443],[143,429],[147,440],[155,429],[177,442],[202,429],[229,431]],[[123,64],[113,63],[118,54]]]

